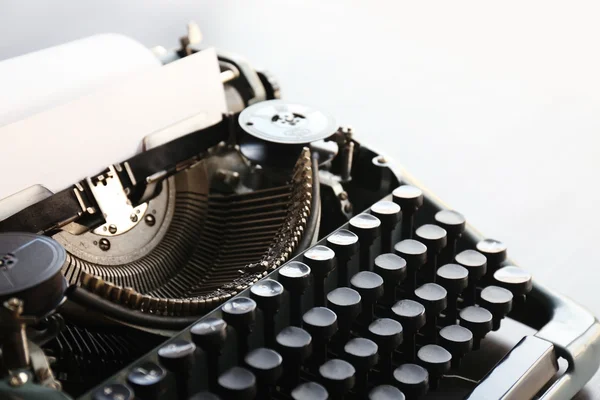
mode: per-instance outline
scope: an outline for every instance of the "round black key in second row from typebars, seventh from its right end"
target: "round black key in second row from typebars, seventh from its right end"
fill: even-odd
[[[337,331],[337,315],[325,307],[313,307],[302,316],[304,329],[313,338],[313,359],[316,365],[327,359],[327,343]]]

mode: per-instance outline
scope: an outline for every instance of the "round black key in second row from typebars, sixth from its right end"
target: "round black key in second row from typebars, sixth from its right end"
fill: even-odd
[[[361,311],[361,297],[354,289],[340,287],[327,294],[327,307],[338,318],[338,337],[340,346],[350,339],[352,323]]]

